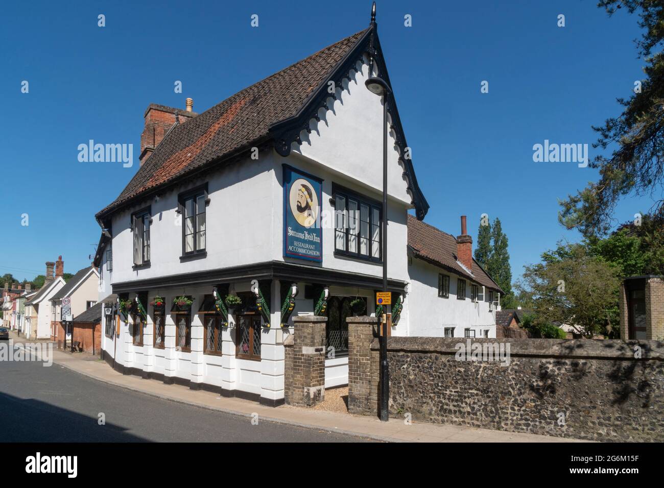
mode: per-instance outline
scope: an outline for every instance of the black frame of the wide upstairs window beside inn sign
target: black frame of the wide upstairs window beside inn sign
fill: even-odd
[[[339,210],[337,208],[337,197],[343,197],[345,199],[345,208],[343,210]],[[357,212],[359,214],[359,221],[357,222],[357,234],[356,235],[356,246],[357,246],[357,251],[349,251],[349,235],[350,235],[350,218],[348,216],[348,206],[349,206],[349,200],[353,200],[357,202]],[[357,259],[361,261],[369,261],[373,263],[382,263],[382,242],[383,242],[383,236],[382,236],[382,219],[384,218],[384,212],[382,208],[382,202],[379,202],[375,199],[372,199],[370,197],[365,197],[364,195],[361,195],[353,190],[349,190],[345,187],[342,187],[341,185],[337,185],[336,183],[332,183],[332,196],[331,196],[331,202],[333,202],[333,207],[334,207],[334,254],[335,256],[343,256],[345,258],[352,258],[352,259]],[[362,206],[365,205],[369,208],[368,212],[368,219],[367,224],[369,225],[369,232],[367,233],[367,241],[368,241],[368,254],[362,254],[360,252],[361,248],[361,208]],[[372,228],[376,224],[373,221],[373,210],[378,210],[378,258],[373,256],[373,251],[374,251],[374,244],[376,241],[373,240],[373,232]],[[344,217],[343,217],[343,223],[346,225],[346,227],[343,228],[343,230],[339,230],[337,227],[337,212],[338,211],[343,211],[344,212]],[[338,249],[337,248],[337,232],[343,232],[344,234],[344,248],[343,249]]]

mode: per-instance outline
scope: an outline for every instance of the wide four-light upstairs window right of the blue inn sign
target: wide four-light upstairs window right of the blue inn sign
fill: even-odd
[[[335,254],[380,262],[382,204],[345,189],[333,189]]]

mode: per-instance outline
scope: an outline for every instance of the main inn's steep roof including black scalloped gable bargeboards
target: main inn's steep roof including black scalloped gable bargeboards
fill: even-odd
[[[147,197],[149,193],[179,179],[234,161],[252,147],[274,143],[275,148],[286,155],[291,142],[299,138],[300,131],[308,127],[309,120],[315,115],[308,109],[313,108],[317,112],[319,105],[329,97],[328,80],[334,80],[337,86],[341,86],[341,80],[344,76],[348,77],[349,68],[354,68],[369,48],[370,41],[377,53],[376,63],[380,64],[383,59],[380,42],[376,25],[372,23],[368,29],[268,76],[202,114],[176,123],[118,198],[100,210],[96,217],[102,220],[113,210]],[[384,67],[382,74],[389,82]],[[393,97],[390,93],[388,111],[397,133],[397,144],[404,149],[406,140]],[[412,161],[402,161],[418,218],[424,218],[429,205],[418,186]]]

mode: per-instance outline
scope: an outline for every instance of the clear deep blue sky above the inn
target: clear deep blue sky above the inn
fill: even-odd
[[[62,254],[88,266],[94,214],[135,173],[150,103],[202,112],[242,88],[369,25],[371,1],[230,5],[203,1],[21,2],[3,5],[4,113],[0,274],[31,279]],[[106,27],[98,27],[98,15]],[[257,14],[259,27],[250,27]],[[404,15],[412,27],[404,27]],[[565,27],[557,27],[558,14]],[[420,186],[426,222],[477,235],[501,218],[513,277],[556,241],[578,240],[556,220],[558,199],[596,171],[534,163],[533,145],[590,143],[643,78],[637,17],[609,18],[594,0],[378,1],[380,41]],[[21,82],[29,93],[21,93]],[[183,93],[175,94],[175,80]],[[489,93],[480,92],[483,80]],[[80,163],[94,139],[133,143],[135,165]],[[590,149],[591,157],[594,150]],[[651,199],[625,199],[622,222]],[[29,225],[21,225],[21,215]]]

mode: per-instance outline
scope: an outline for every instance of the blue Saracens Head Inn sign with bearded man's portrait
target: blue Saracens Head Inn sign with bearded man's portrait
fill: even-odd
[[[322,181],[284,165],[284,257],[323,261]]]

